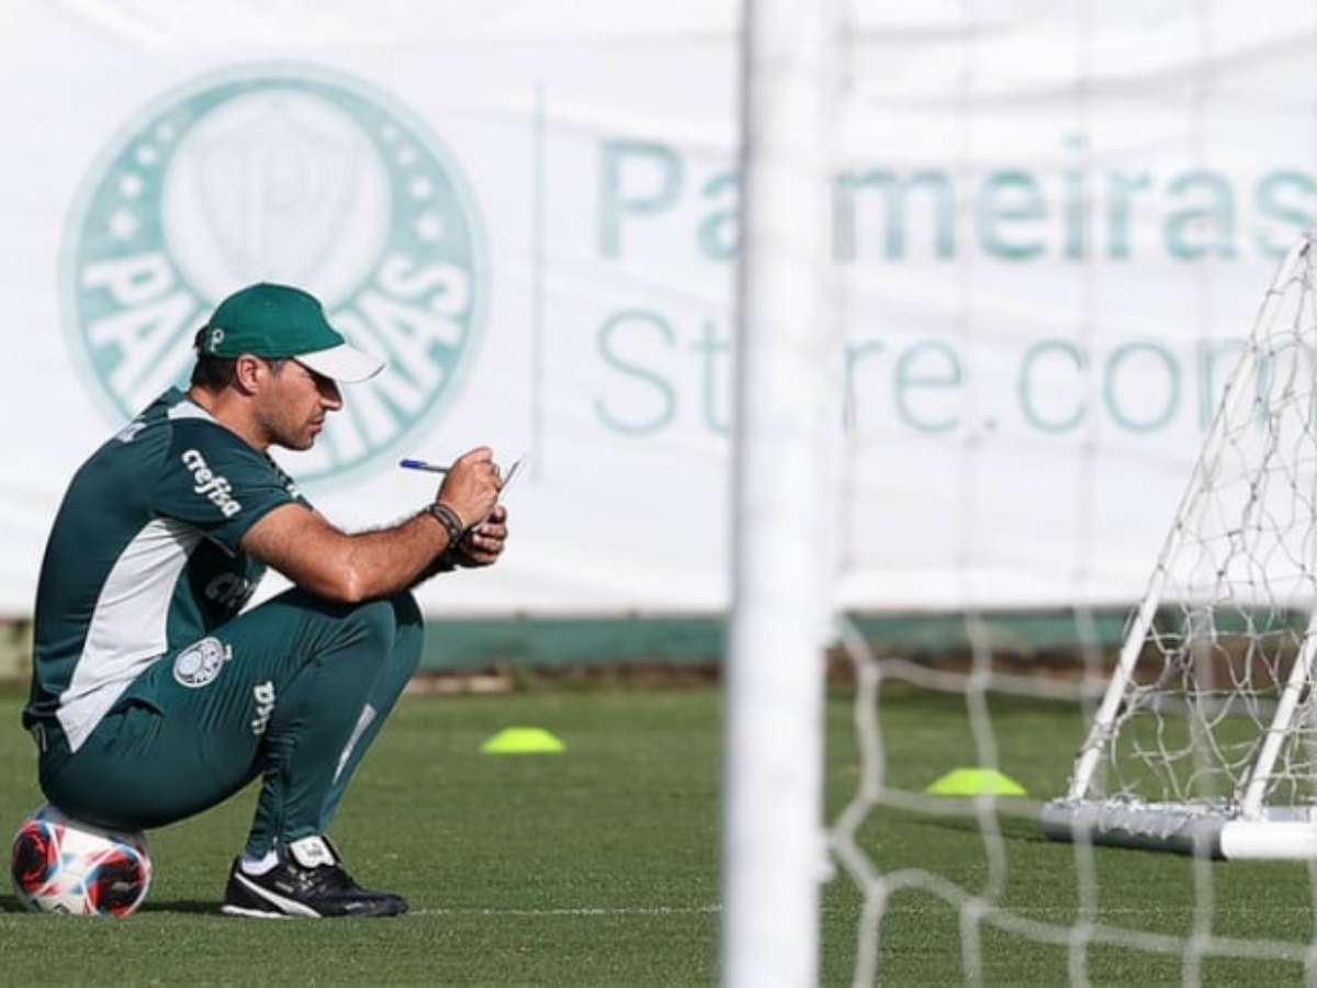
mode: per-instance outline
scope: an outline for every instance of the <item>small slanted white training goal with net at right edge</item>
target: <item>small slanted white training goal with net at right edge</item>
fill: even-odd
[[[1059,839],[1317,856],[1317,249],[1281,262],[1064,798]]]

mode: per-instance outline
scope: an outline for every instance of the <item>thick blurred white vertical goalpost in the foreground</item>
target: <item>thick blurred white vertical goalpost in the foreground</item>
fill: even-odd
[[[828,291],[836,0],[745,0],[722,980],[810,985],[840,393]]]

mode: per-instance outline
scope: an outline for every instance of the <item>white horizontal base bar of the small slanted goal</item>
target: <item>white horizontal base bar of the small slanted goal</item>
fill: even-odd
[[[1233,804],[1054,800],[1039,821],[1054,840],[1221,860],[1317,858],[1317,808],[1267,808],[1260,818],[1245,819]]]

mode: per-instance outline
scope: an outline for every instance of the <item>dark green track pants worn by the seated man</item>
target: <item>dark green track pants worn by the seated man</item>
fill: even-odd
[[[423,634],[408,593],[349,606],[288,590],[154,663],[76,752],[42,759],[41,788],[79,819],[149,829],[259,776],[248,854],[323,834]]]

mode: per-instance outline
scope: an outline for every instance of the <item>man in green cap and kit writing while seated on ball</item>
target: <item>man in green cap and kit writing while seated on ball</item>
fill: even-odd
[[[196,336],[170,389],[78,470],[37,590],[32,696],[41,788],[116,829],[183,819],[261,779],[229,872],[236,916],[395,916],[325,835],[421,652],[408,589],[495,563],[507,537],[487,448],[435,501],[349,535],[267,456],[309,449],[338,385],[382,368],[320,303],[255,285]],[[240,614],[267,566],[294,588]]]

